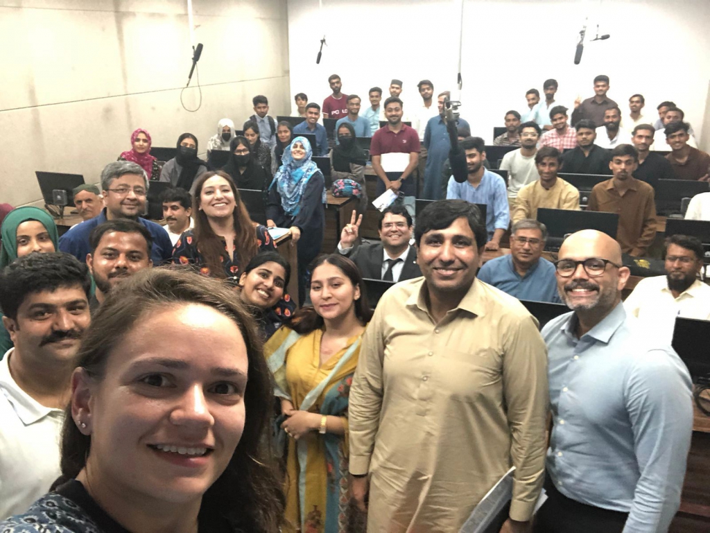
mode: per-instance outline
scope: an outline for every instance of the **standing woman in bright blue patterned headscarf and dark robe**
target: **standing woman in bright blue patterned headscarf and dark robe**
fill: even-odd
[[[298,247],[298,303],[305,302],[308,265],[320,253],[325,225],[323,173],[311,160],[305,137],[296,137],[283,152],[268,190],[266,225],[290,228]],[[301,237],[304,238],[301,238]]]

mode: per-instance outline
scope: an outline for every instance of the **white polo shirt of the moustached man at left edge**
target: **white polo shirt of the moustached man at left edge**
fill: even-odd
[[[64,411],[45,407],[10,375],[10,348],[0,361],[0,521],[25,512],[60,476]]]

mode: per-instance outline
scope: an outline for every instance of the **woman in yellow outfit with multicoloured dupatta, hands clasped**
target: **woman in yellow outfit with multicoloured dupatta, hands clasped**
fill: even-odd
[[[288,442],[284,531],[340,533],[348,507],[348,396],[372,311],[351,260],[324,255],[311,272],[313,307],[296,312],[264,352]]]

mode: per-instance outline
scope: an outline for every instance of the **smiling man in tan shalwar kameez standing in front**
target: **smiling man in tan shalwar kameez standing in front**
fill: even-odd
[[[415,229],[423,278],[378,302],[350,391],[350,473],[370,533],[454,532],[515,465],[510,517],[525,532],[545,455],[547,361],[537,322],[476,280],[479,209],[434,202]]]

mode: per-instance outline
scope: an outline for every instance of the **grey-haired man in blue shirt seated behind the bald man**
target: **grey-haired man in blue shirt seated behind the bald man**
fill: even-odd
[[[476,278],[518,300],[559,303],[555,265],[540,257],[547,240],[545,224],[522,219],[510,233],[510,253],[488,261]]]

